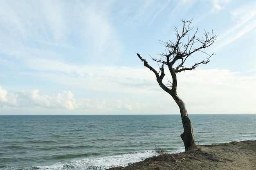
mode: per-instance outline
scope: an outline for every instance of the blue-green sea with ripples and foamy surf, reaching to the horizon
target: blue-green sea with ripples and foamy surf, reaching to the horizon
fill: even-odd
[[[197,144],[256,140],[256,114],[189,115]],[[0,116],[0,170],[104,170],[184,151],[180,115]]]

